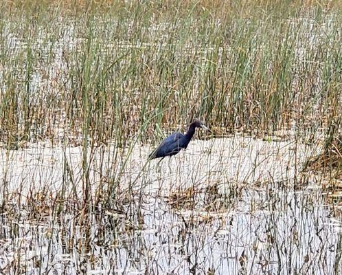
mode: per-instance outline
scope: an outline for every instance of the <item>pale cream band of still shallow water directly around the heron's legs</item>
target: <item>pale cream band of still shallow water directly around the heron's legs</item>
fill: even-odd
[[[305,159],[317,152],[317,146],[304,146],[294,141],[272,142],[235,135],[207,141],[194,140],[187,151],[159,161],[146,159],[152,148],[136,144],[132,153],[119,151],[114,145],[89,148],[89,179],[96,185],[103,177],[118,177],[125,188],[135,181],[135,189],[168,195],[172,189],[205,188],[219,184],[260,184],[264,181],[295,179]],[[115,154],[124,157],[117,159]],[[82,146],[52,146],[46,142],[27,144],[20,150],[0,148],[0,177],[9,191],[47,188],[54,193],[70,175],[82,191]],[[124,168],[123,167],[124,165]]]

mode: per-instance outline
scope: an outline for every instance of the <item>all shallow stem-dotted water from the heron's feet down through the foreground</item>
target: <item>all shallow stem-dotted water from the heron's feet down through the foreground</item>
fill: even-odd
[[[342,272],[337,208],[327,203],[318,176],[299,173],[314,146],[235,135],[194,140],[187,151],[146,164],[151,150],[133,148],[119,178],[122,190],[134,182],[133,190],[110,207],[99,203],[88,218],[73,209],[71,177],[65,175],[67,163],[82,197],[81,147],[28,144],[1,151],[0,177],[11,195],[0,215],[0,271]],[[94,199],[103,179],[118,177],[124,163],[115,162],[113,152],[106,146],[89,154]],[[63,186],[69,199],[59,212],[56,194]]]

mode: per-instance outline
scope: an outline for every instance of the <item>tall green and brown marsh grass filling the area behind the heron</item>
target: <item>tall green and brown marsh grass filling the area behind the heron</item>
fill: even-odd
[[[340,95],[339,8],[47,3],[1,7],[0,137],[7,144],[56,139],[62,125],[125,146],[146,120],[144,141],[194,118],[217,133],[273,133],[293,121],[310,129],[326,124]]]

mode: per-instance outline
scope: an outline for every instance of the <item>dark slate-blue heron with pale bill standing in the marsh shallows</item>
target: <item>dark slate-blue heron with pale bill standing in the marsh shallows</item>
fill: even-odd
[[[192,122],[189,126],[189,129],[187,130],[187,133],[185,135],[183,133],[173,133],[172,135],[169,135],[166,137],[163,142],[153,151],[148,159],[157,159],[158,157],[166,157],[166,156],[172,156],[176,155],[181,151],[181,149],[186,149],[187,145],[189,144],[192,136],[195,133],[196,127],[205,129],[212,133],[204,124],[203,122],[199,120],[195,120]]]

